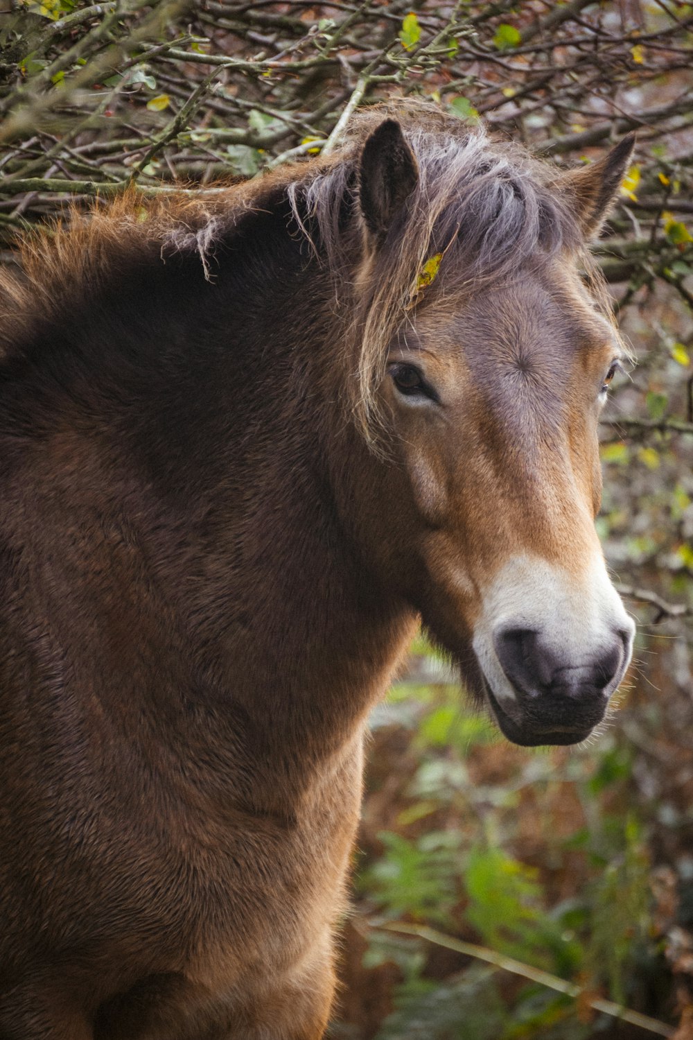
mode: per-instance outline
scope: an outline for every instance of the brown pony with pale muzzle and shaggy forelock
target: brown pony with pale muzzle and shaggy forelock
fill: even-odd
[[[559,175],[393,112],[3,276],[2,1040],[318,1040],[419,618],[517,744],[623,675],[585,240],[632,142]]]

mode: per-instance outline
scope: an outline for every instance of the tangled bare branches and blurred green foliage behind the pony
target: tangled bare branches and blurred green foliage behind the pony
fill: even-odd
[[[418,95],[557,166],[638,129],[597,245],[638,358],[599,528],[640,628],[588,746],[521,752],[421,641],[373,718],[340,1040],[693,1038],[693,8],[0,0],[0,237],[332,148]],[[623,1008],[630,1010],[624,1011]]]

